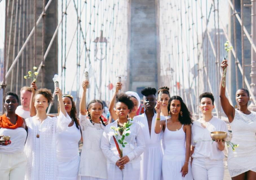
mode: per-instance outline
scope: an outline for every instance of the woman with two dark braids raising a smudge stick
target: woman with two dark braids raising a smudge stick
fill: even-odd
[[[101,118],[104,105],[100,100],[92,100],[87,105],[86,116],[86,86],[89,82],[82,83],[83,94],[80,101],[80,126],[84,145],[82,147],[79,176],[81,180],[107,179],[106,158],[100,148],[100,140],[105,129]]]

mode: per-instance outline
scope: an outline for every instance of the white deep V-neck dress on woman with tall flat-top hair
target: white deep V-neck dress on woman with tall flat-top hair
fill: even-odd
[[[165,120],[165,117],[160,116],[160,120]],[[134,121],[140,125],[146,143],[146,148],[141,156],[141,180],[160,180],[162,179],[163,131],[159,134],[155,133],[156,114],[152,118],[151,135],[145,113],[135,116]]]

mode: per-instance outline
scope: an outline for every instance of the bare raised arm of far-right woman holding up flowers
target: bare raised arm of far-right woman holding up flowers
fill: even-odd
[[[222,78],[221,78],[221,81],[220,81],[220,103],[221,103],[221,106],[222,106],[222,109],[223,109],[224,113],[227,115],[227,118],[228,118],[229,122],[231,123],[234,119],[234,116],[235,116],[235,109],[234,109],[233,106],[231,106],[231,104],[229,103],[229,101],[226,97],[226,80],[224,81],[224,83],[222,83],[223,78],[224,78],[223,77],[224,69],[227,68],[227,66],[228,66],[227,60],[223,60],[221,62],[220,66],[223,69]]]

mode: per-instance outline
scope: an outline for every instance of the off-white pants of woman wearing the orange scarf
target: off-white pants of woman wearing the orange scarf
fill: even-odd
[[[0,153],[1,180],[24,180],[26,156],[23,152],[16,154]]]

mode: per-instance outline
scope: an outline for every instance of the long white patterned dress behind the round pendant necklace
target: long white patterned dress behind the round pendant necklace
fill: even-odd
[[[27,157],[25,180],[57,179],[56,135],[65,131],[71,122],[71,118],[66,116],[60,112],[58,117],[48,116],[41,124],[35,116],[26,119],[28,137],[24,149]]]

